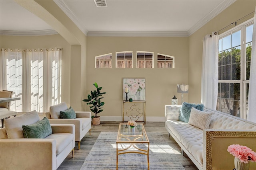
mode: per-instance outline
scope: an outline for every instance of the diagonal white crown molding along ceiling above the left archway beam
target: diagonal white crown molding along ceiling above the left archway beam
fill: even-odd
[[[60,7],[60,9],[76,24],[76,26],[85,34],[87,35],[88,31],[86,27],[78,20],[76,15],[68,8],[65,4],[64,0],[54,0],[54,2]]]

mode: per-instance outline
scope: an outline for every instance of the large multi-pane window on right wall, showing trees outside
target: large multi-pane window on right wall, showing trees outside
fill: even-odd
[[[253,21],[220,35],[217,110],[246,119]]]

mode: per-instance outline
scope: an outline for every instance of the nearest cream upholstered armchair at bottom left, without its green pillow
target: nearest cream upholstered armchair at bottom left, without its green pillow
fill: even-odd
[[[74,155],[72,124],[51,124],[52,134],[44,139],[24,138],[22,125],[39,120],[36,111],[6,119],[0,129],[1,170],[56,170],[71,151]]]

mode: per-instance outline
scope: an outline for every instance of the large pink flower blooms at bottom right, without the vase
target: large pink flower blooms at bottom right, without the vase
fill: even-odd
[[[246,146],[230,145],[228,146],[228,152],[245,164],[248,164],[249,161],[256,162],[256,152]]]

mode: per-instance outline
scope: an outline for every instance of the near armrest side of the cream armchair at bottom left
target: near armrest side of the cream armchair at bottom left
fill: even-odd
[[[0,169],[56,170],[56,140],[1,139]]]

